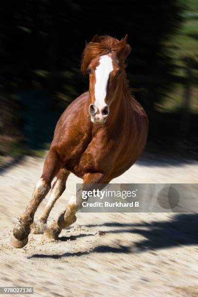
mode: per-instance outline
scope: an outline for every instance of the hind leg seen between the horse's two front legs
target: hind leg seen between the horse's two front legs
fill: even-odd
[[[46,204],[46,207],[42,214],[39,216],[37,221],[34,221],[32,224],[31,231],[33,234],[42,234],[47,229],[47,220],[49,217],[49,213],[53,208],[55,202],[58,198],[61,197],[63,192],[66,189],[66,180],[69,176],[69,171],[65,168],[61,168],[56,176],[56,181],[54,181],[52,188],[50,190],[49,201]]]

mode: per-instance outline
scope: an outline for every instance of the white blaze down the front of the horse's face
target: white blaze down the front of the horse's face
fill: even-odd
[[[99,66],[96,67],[96,83],[95,83],[95,106],[101,110],[106,106],[104,101],[107,93],[107,82],[110,72],[114,70],[112,58],[108,55],[103,55],[99,59]]]

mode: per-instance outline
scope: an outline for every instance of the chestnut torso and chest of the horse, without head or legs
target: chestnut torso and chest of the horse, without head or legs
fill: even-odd
[[[101,126],[87,117],[89,92],[70,104],[57,123],[51,144],[68,171],[80,178],[99,172],[103,174],[100,182],[106,183],[135,163],[145,146],[148,120],[140,104],[132,100],[133,105],[123,94],[116,125],[111,125],[109,116]]]

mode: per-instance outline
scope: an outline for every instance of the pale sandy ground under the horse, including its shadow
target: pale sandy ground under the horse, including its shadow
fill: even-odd
[[[46,297],[198,296],[198,214],[79,213],[60,240],[31,234],[26,247],[11,247],[43,162],[26,157],[0,172],[0,286],[33,286],[35,296]],[[147,156],[112,182],[193,183],[197,173],[198,163]],[[65,208],[76,182],[70,175],[49,221]]]

